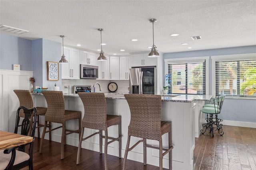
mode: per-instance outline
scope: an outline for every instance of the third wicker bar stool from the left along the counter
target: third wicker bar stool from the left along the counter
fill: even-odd
[[[76,164],[80,163],[80,151],[83,140],[86,140],[95,134],[100,134],[100,153],[102,153],[102,138],[105,138],[105,149],[104,149],[104,161],[105,170],[108,169],[108,144],[118,140],[119,142],[119,158],[121,158],[122,149],[122,133],[121,133],[121,116],[107,115],[107,105],[104,93],[84,93],[79,92],[83,104],[84,104],[84,118],[82,120],[81,136],[78,144],[78,152]],[[118,125],[118,138],[108,136],[108,127],[112,125]],[[97,129],[99,132],[95,132],[90,136],[83,138],[84,128]],[[102,135],[102,131],[105,131],[105,136]],[[111,139],[108,142],[108,139]]]

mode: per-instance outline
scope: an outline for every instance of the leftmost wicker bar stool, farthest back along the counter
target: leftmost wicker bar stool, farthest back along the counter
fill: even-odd
[[[28,90],[13,90],[13,91],[17,95],[17,97],[20,101],[20,106],[24,106],[26,108],[34,107],[32,96],[31,96],[31,94]],[[39,116],[40,115],[45,115],[45,113],[47,111],[47,107],[36,107],[36,110],[37,110],[37,115],[36,115],[37,127],[36,128],[37,128],[37,132],[38,132],[38,138],[40,138],[39,128],[44,127],[44,125],[40,124]],[[23,118],[25,117],[25,114],[23,113],[23,110],[21,110],[20,113],[19,113],[18,123],[20,121],[20,117],[23,117]],[[18,126],[20,127],[21,125],[18,125]],[[31,131],[32,131],[32,126],[30,127],[28,135],[31,134]]]

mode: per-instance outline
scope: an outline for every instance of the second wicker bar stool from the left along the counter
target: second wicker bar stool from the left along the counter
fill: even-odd
[[[43,140],[44,135],[47,132],[51,132],[52,130],[56,130],[58,128],[62,127],[62,136],[61,136],[61,152],[60,152],[60,159],[64,158],[64,144],[66,144],[66,135],[71,133],[81,133],[81,111],[69,111],[65,110],[65,101],[62,91],[42,91],[46,102],[47,102],[47,111],[45,114],[45,122],[44,122],[44,130],[42,134],[42,138],[40,141],[40,149],[39,153],[42,153],[42,146],[43,146]],[[78,119],[79,125],[78,130],[68,130],[66,129],[66,121],[72,120],[72,119]],[[46,131],[46,128],[49,125],[53,123],[61,123],[62,126],[56,127],[56,128],[49,128],[49,130]],[[51,126],[50,126],[51,127]],[[49,140],[51,136],[49,135]]]

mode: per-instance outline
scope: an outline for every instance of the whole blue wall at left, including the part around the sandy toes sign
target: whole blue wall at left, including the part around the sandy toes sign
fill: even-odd
[[[47,61],[58,62],[62,55],[62,44],[45,39],[27,40],[0,34],[0,69],[12,70],[13,64],[20,64],[21,71],[33,71],[34,86],[48,87],[54,84],[62,87],[61,65],[59,80],[47,80]]]

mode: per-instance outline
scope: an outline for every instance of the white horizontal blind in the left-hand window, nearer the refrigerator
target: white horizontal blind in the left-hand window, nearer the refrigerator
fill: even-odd
[[[168,63],[169,93],[205,95],[205,60]]]

